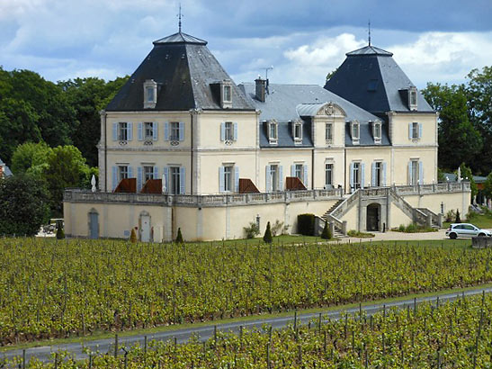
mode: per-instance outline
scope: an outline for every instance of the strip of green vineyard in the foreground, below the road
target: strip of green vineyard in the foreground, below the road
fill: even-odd
[[[239,334],[217,333],[183,345],[152,341],[123,347],[121,354],[88,353],[76,362],[67,353],[54,363],[31,360],[30,368],[490,368],[492,298],[459,298],[445,304],[357,313],[341,320],[320,316],[309,325],[268,326]],[[21,365],[18,358],[10,365]]]

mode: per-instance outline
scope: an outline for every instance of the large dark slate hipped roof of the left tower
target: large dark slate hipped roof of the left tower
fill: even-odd
[[[207,41],[183,32],[154,41],[154,49],[121,87],[106,111],[222,109],[219,94],[212,91],[212,85],[224,80],[230,80],[232,86],[229,109],[254,110],[206,45]],[[143,84],[150,79],[157,82],[157,104],[154,109],[144,109]]]

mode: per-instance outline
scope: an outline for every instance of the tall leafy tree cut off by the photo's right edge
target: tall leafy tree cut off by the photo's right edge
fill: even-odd
[[[467,94],[470,121],[479,130],[484,149],[475,157],[476,173],[487,175],[492,171],[492,67],[473,69],[468,75]]]

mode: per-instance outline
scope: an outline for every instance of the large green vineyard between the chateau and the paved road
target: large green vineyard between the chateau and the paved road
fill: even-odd
[[[0,344],[330,306],[492,281],[489,250],[406,243],[0,240]]]

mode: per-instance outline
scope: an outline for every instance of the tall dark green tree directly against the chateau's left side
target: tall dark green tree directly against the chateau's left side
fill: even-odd
[[[100,111],[127,80],[128,76],[125,76],[106,83],[101,78],[89,77],[58,83],[76,111],[77,125],[72,140],[90,166],[97,166],[96,145],[101,138]]]

